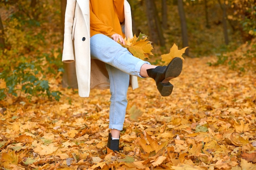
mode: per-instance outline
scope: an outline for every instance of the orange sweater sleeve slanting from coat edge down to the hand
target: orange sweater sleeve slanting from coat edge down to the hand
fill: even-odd
[[[107,26],[92,11],[92,4],[90,2],[90,29],[100,32],[104,35],[112,36],[115,34],[114,29],[111,26]]]

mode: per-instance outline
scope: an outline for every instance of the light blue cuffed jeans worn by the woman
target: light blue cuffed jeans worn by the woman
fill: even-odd
[[[110,80],[109,128],[121,131],[126,114],[129,75],[141,77],[141,66],[150,63],[134,57],[126,48],[106,35],[96,34],[90,41],[92,59],[106,63]]]

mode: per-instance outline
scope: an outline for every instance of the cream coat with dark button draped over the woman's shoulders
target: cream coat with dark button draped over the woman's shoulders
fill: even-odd
[[[79,96],[89,97],[91,88],[109,88],[105,63],[90,56],[90,5],[89,0],[67,0],[62,61],[75,61]],[[124,33],[132,37],[131,9],[124,0]],[[131,76],[131,87],[138,87],[137,77]]]

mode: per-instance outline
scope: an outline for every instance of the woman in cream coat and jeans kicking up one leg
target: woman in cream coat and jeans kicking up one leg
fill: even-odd
[[[160,94],[169,96],[173,89],[169,80],[182,71],[180,58],[168,66],[155,66],[132,56],[121,46],[124,37],[132,37],[127,0],[67,0],[62,61],[75,61],[79,96],[89,97],[90,88],[110,88],[107,147],[114,151],[119,151],[128,86],[135,89],[137,77],[151,77]]]

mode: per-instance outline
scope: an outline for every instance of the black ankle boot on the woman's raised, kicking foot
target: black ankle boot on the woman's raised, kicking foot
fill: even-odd
[[[182,59],[175,57],[167,66],[157,66],[148,69],[148,76],[155,80],[157,89],[162,96],[169,96],[173,92],[173,85],[169,82],[180,75],[182,71]]]

